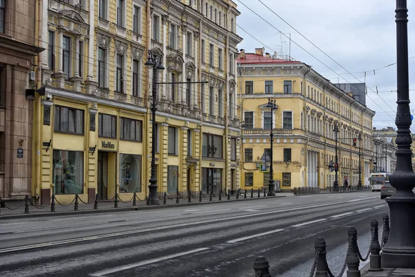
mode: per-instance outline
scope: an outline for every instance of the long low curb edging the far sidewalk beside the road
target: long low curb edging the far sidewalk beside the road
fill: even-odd
[[[90,215],[95,213],[119,213],[123,211],[147,211],[147,210],[156,210],[160,208],[174,208],[174,207],[183,207],[183,206],[196,206],[196,205],[208,205],[208,204],[218,204],[218,203],[230,203],[230,202],[241,202],[241,201],[254,201],[260,199],[275,199],[275,198],[282,198],[286,197],[286,195],[276,195],[276,196],[267,196],[267,197],[256,197],[256,198],[246,198],[246,199],[231,199],[231,200],[219,200],[212,201],[212,202],[191,202],[191,203],[179,203],[179,204],[166,204],[166,205],[156,205],[156,206],[129,206],[129,207],[122,207],[122,208],[104,208],[100,210],[99,208],[96,210],[81,210],[81,211],[62,211],[62,212],[44,212],[44,213],[22,213],[18,215],[0,215],[1,220],[15,220],[20,218],[32,218],[32,217],[53,217],[59,215]],[[187,199],[183,199],[187,200]]]

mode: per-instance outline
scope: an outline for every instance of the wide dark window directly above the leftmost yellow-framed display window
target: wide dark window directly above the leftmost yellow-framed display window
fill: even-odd
[[[55,106],[55,132],[84,134],[84,111],[62,106]]]

